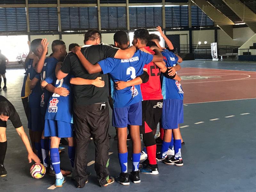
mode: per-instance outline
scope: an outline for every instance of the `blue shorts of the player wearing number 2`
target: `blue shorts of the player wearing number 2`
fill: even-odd
[[[44,137],[73,137],[73,124],[64,121],[45,119]]]

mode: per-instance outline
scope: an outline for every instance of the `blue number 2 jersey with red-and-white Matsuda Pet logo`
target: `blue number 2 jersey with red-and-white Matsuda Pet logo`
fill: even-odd
[[[45,119],[51,119],[56,121],[64,121],[68,123],[73,123],[72,118],[72,94],[71,94],[71,84],[69,83],[71,75],[69,74],[65,78],[58,80],[55,73],[46,77],[45,81],[48,84],[54,84],[55,87],[64,87],[69,91],[67,97],[60,96],[57,93],[52,93],[48,103],[46,103],[47,110],[45,113]]]

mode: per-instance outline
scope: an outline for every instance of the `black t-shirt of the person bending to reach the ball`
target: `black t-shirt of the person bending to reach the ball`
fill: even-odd
[[[22,126],[22,123],[20,121],[20,116],[18,115],[17,111],[15,110],[14,106],[12,105],[12,103],[7,100],[4,96],[0,95],[0,102],[1,101],[7,101],[10,105],[10,116],[9,116],[9,120],[11,120],[13,126],[15,129],[19,128]],[[0,119],[0,127],[6,127],[6,121],[2,121]]]

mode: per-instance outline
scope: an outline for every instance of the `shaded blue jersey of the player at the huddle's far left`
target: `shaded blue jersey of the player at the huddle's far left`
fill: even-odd
[[[28,106],[32,107],[40,107],[40,93],[41,93],[41,85],[40,85],[40,73],[36,73],[36,70],[32,66],[33,60],[30,59],[28,62],[28,69],[26,73],[30,80],[36,77],[39,81],[37,82],[35,88],[31,90],[30,95],[28,96]]]

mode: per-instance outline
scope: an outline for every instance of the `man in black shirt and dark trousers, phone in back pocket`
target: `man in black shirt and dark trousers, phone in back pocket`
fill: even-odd
[[[136,48],[131,46],[126,50],[100,44],[101,35],[98,30],[91,29],[85,33],[84,47],[81,52],[91,63],[96,64],[108,57],[129,59]],[[83,67],[76,54],[70,52],[65,58],[62,67],[56,73],[58,79],[62,79],[72,73],[75,77],[95,79],[101,77],[105,81],[105,87],[94,85],[74,85],[74,126],[76,138],[76,159],[73,178],[77,187],[83,188],[88,182],[85,169],[87,166],[87,147],[92,134],[95,144],[95,171],[101,187],[114,182],[114,178],[108,172],[108,75],[102,72],[89,74]]]

